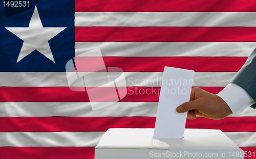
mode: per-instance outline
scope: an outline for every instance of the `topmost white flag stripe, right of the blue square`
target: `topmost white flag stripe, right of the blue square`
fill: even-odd
[[[75,26],[256,26],[255,12],[75,12]]]

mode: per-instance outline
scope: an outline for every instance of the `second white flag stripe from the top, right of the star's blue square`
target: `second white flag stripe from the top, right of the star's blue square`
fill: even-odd
[[[100,48],[103,57],[248,57],[255,47],[256,42],[75,42],[75,56]]]

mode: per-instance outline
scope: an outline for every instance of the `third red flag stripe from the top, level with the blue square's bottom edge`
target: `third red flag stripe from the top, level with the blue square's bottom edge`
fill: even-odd
[[[82,65],[90,60],[95,65]],[[78,57],[75,63],[79,65],[78,71],[90,72],[100,60],[101,57]],[[196,72],[237,72],[246,60],[247,57],[103,57],[106,67],[118,67],[127,72],[162,72],[165,66]]]

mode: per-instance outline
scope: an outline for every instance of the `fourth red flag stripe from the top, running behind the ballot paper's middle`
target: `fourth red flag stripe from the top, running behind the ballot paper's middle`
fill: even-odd
[[[210,93],[218,94],[224,87],[200,87]],[[109,87],[101,87],[97,92],[111,92]],[[120,101],[158,101],[160,87],[127,87],[126,96]],[[0,87],[0,102],[89,102],[87,92],[76,92],[69,87]],[[97,93],[96,92],[96,93]],[[116,93],[116,92],[115,92]],[[121,92],[119,92],[120,94]],[[116,94],[105,94],[93,101],[113,101]],[[92,100],[91,100],[92,101]]]

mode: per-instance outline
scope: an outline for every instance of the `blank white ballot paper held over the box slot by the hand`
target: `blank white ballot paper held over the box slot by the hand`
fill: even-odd
[[[193,77],[193,70],[164,67],[154,139],[183,138],[187,113],[176,108],[189,101]]]

